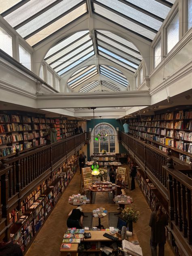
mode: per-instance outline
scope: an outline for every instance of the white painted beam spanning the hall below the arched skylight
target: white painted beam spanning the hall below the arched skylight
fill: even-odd
[[[77,107],[126,107],[151,105],[149,91],[124,91],[101,93],[57,93],[37,95],[36,107],[40,109]]]

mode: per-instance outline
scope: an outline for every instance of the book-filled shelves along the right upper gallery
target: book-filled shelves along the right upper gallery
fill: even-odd
[[[129,125],[130,134],[147,140],[162,151],[170,147],[175,151],[174,156],[189,162],[192,154],[192,106],[188,110],[132,118]]]

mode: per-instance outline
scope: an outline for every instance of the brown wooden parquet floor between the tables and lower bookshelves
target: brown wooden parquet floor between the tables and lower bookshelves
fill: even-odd
[[[134,198],[134,205],[141,213],[138,222],[133,223],[133,232],[137,234],[139,244],[143,250],[143,256],[150,256],[150,234],[149,218],[151,210],[140,190],[136,184],[136,189],[130,192],[126,191],[126,194]],[[51,215],[39,231],[34,242],[30,246],[26,256],[59,256],[60,245],[62,243],[62,237],[67,228],[66,220],[68,213],[71,209],[75,208],[68,204],[68,197],[72,194],[77,194],[80,188],[80,174],[79,171],[75,174],[69,186],[66,188],[62,197],[58,201],[57,205],[51,212]],[[97,207],[105,207],[108,212],[117,212],[117,205],[108,203],[107,193],[97,193],[95,204],[83,205],[83,212],[91,212],[92,209]],[[109,227],[108,216],[102,218],[101,223],[105,228]],[[98,225],[98,219],[93,219],[93,226]],[[173,252],[168,243],[165,245],[165,256],[173,256]]]

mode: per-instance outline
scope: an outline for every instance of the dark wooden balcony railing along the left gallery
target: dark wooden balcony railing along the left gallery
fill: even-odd
[[[6,226],[9,226],[10,211],[20,205],[38,184],[49,177],[51,171],[79,150],[87,136],[87,132],[81,133],[15,157],[2,159],[0,221],[5,218]]]

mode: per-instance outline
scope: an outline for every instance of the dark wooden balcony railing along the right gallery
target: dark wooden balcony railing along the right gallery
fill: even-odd
[[[190,255],[192,244],[192,158],[190,164],[136,139],[124,132],[118,139],[130,156],[145,171],[167,201],[170,227],[174,232],[181,251]],[[186,242],[188,241],[188,242]]]

